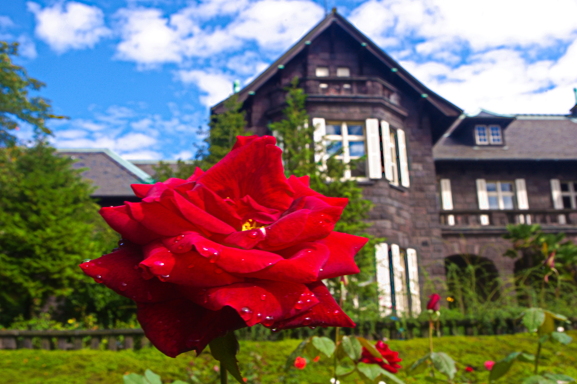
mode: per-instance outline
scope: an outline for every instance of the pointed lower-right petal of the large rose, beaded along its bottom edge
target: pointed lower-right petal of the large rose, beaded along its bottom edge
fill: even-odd
[[[287,318],[287,320],[280,321],[273,326],[279,329],[298,328],[306,325],[323,327],[346,326],[350,328],[355,326],[349,316],[340,309],[323,282],[314,282],[306,284],[306,286],[319,299],[319,304],[304,313],[298,314],[293,318]]]

